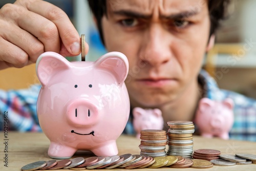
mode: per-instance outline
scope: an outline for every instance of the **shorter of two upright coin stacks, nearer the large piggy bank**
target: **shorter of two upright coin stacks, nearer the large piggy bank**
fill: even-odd
[[[166,132],[163,130],[141,130],[140,155],[150,157],[166,156]]]

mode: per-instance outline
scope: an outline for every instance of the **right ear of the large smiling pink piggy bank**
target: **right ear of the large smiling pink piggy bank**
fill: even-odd
[[[95,61],[97,68],[111,72],[120,86],[127,77],[129,71],[129,63],[126,56],[120,52],[109,52],[101,56]]]

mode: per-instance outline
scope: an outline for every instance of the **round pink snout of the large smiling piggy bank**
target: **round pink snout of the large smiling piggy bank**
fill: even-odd
[[[68,105],[67,118],[75,126],[91,126],[98,121],[98,109],[87,99],[74,99]]]

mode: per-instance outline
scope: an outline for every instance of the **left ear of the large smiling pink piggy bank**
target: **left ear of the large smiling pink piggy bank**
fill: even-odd
[[[36,61],[36,75],[45,87],[52,75],[61,70],[70,68],[70,62],[63,56],[55,52],[42,53]]]

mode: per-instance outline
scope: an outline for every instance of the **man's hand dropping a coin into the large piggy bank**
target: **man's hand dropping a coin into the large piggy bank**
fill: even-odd
[[[0,9],[0,69],[24,67],[46,51],[75,56],[80,50],[80,35],[60,8],[41,0],[17,0]]]

